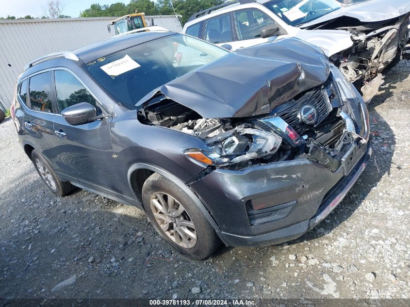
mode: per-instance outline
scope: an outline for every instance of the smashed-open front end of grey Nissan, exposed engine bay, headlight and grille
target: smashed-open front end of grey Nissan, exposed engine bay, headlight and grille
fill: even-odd
[[[361,142],[361,131],[353,123],[362,122],[362,114],[343,102],[346,97],[342,96],[349,89],[340,91],[338,82],[343,76],[336,67],[333,69],[339,79],[330,74],[325,83],[264,115],[203,118],[159,93],[143,105],[137,116],[143,124],[178,130],[203,140],[206,149],[193,148],[185,154],[204,155],[203,162],[211,167],[241,169],[302,158],[331,171],[336,171],[346,159],[353,167],[351,162],[358,161],[366,147],[366,141]],[[350,91],[348,98],[356,98],[351,88]]]

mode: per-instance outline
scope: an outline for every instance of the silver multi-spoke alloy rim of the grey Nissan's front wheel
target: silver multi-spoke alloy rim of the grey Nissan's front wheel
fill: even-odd
[[[169,239],[185,248],[195,246],[195,225],[188,212],[174,197],[156,192],[151,196],[150,206],[156,222]]]

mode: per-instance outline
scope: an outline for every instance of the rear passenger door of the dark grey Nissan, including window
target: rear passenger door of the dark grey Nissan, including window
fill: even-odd
[[[22,81],[22,87],[27,87],[26,112],[23,115],[23,131],[26,140],[46,157],[56,170],[56,139],[54,136],[55,104],[52,91],[52,72],[45,71]],[[24,89],[20,89],[22,93]],[[26,93],[21,95],[26,97]]]

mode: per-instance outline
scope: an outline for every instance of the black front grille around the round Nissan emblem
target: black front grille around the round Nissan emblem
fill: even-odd
[[[331,77],[325,84],[331,82]],[[317,86],[305,93],[297,100],[292,100],[284,105],[279,106],[274,110],[274,114],[280,116],[285,122],[288,123],[293,129],[296,130],[299,135],[305,135],[312,127],[318,126],[328,115],[329,107],[328,102],[323,96],[324,86]],[[326,91],[326,89],[325,89]],[[326,93],[326,92],[325,92]],[[318,120],[314,125],[307,125],[302,122],[298,116],[298,112],[302,105],[310,104],[314,106],[318,112]]]

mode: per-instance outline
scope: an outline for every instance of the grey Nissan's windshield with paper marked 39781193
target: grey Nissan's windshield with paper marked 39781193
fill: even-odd
[[[117,102],[135,109],[134,105],[152,90],[228,53],[197,38],[173,34],[101,57],[83,67]]]

